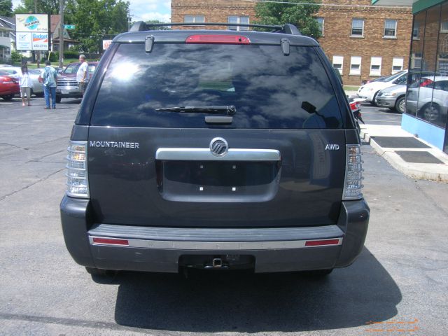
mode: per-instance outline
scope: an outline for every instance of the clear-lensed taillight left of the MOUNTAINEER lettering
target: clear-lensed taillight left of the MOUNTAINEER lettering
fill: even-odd
[[[67,155],[67,190],[71,197],[89,197],[87,141],[70,141]]]

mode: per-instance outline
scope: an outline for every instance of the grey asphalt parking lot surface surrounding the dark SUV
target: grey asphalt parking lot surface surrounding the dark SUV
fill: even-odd
[[[92,279],[64,246],[59,202],[80,99],[0,101],[0,335],[446,335],[448,185],[363,146],[365,248],[325,279],[122,272]],[[362,107],[366,123],[401,116]],[[297,204],[300,206],[300,204]]]

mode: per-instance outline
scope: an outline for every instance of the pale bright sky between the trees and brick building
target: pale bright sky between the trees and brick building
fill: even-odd
[[[171,0],[127,0],[130,2],[132,21],[159,20],[171,22]],[[20,0],[13,0],[13,8],[19,6]],[[70,22],[66,22],[69,24]]]

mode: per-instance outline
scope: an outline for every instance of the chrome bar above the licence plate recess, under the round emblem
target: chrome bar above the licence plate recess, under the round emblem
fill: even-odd
[[[275,149],[230,148],[225,156],[211,154],[209,148],[158,148],[155,160],[187,161],[280,161]]]

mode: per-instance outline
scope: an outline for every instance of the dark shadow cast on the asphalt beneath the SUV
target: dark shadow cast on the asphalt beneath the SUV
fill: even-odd
[[[123,272],[116,322],[179,332],[262,332],[350,328],[397,314],[400,289],[364,248],[325,279],[300,274]]]

